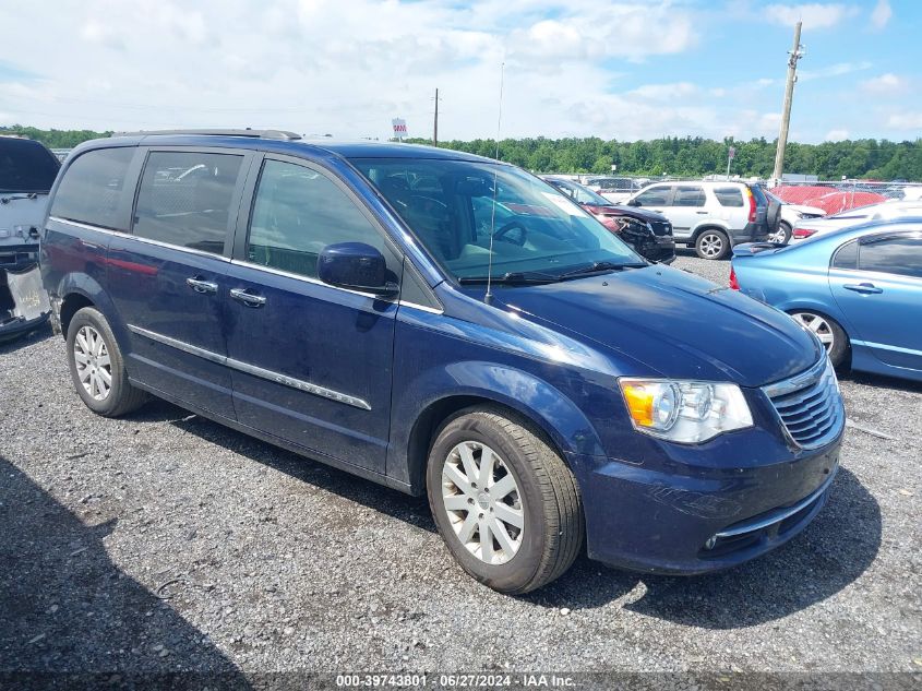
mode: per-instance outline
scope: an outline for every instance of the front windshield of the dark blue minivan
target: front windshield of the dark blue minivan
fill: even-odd
[[[350,163],[464,283],[488,276],[563,281],[646,264],[567,196],[514,166],[434,158]]]

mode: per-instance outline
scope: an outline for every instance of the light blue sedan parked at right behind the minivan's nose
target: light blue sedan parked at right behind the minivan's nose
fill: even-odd
[[[922,218],[741,245],[730,286],[788,312],[836,366],[922,381]]]

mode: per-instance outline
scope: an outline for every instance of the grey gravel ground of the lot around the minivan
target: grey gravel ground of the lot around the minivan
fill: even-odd
[[[513,598],[454,565],[424,500],[166,403],[96,417],[59,337],[2,345],[0,671],[922,672],[922,386],[842,389],[862,429],[780,550],[694,579],[580,558]]]

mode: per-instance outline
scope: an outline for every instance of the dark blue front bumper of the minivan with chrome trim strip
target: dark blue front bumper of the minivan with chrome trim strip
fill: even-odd
[[[798,535],[823,508],[840,444],[841,434],[815,452],[746,467],[667,462],[652,469],[571,455],[583,491],[589,558],[634,571],[694,575],[764,555]],[[747,445],[737,448],[752,458]],[[703,444],[696,453],[721,451],[726,446]]]

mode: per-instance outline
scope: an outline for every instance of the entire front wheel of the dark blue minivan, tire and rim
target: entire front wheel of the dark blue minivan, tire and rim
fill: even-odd
[[[562,575],[583,545],[570,468],[524,420],[469,408],[438,433],[429,505],[452,556],[494,591],[522,594]]]

